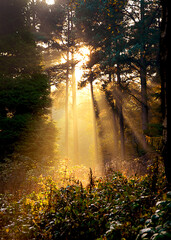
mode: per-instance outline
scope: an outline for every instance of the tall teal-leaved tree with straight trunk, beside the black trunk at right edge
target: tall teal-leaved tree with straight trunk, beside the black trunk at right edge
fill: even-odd
[[[132,6],[131,6],[132,5]],[[147,78],[159,68],[159,2],[132,1],[125,12],[128,29],[127,63],[138,70],[141,81],[142,130],[148,132],[149,106]]]

